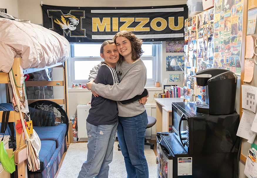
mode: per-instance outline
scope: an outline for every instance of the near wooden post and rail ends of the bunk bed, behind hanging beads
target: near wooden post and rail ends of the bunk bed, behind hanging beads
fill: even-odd
[[[20,81],[21,79],[21,72],[22,72],[22,67],[21,67],[21,58],[17,57],[14,58],[14,63],[12,66],[12,70],[14,73],[14,78],[15,81]],[[5,72],[0,72],[0,83],[8,83],[8,79],[7,79],[7,75],[8,73]],[[18,87],[15,87],[15,90],[17,93],[19,93],[19,89]],[[19,95],[19,94],[18,94]],[[0,111],[0,120],[2,120],[2,114],[3,111]],[[20,117],[20,113],[19,112],[15,112],[15,111],[11,111],[10,115],[9,115],[9,121],[8,122],[15,122],[15,125],[18,123],[17,120],[19,121],[21,119]],[[22,134],[19,134],[17,132],[17,130],[15,129],[16,132],[16,141],[20,140]],[[21,139],[21,146],[25,145],[25,139]],[[18,165],[18,177],[19,178],[27,178],[28,174],[27,174],[27,160],[21,162]]]

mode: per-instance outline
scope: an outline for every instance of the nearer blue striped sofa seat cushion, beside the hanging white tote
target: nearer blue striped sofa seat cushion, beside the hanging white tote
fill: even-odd
[[[45,169],[55,150],[55,141],[41,140],[41,149],[39,151],[40,170],[37,172],[42,172]]]

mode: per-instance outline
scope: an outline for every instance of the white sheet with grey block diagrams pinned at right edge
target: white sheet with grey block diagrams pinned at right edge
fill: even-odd
[[[255,113],[256,111],[257,88],[249,85],[242,85],[242,108]]]

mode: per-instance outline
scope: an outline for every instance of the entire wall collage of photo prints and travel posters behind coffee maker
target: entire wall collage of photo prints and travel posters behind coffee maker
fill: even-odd
[[[241,75],[243,0],[215,0],[214,8],[185,20],[184,101],[205,102],[192,75],[219,68]]]

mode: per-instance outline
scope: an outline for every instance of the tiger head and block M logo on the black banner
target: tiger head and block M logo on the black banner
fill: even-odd
[[[48,10],[48,17],[52,19],[50,30],[54,30],[62,36],[86,37],[85,29],[82,28],[82,18],[85,18],[85,11],[70,11],[63,14],[61,10]]]

